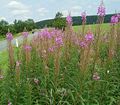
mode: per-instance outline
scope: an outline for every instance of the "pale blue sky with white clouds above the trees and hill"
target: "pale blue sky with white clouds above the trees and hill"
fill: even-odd
[[[60,11],[64,16],[96,15],[101,0],[0,0],[0,20],[12,23],[15,19],[34,19],[35,22],[52,19]],[[106,13],[120,13],[120,0],[104,0]]]

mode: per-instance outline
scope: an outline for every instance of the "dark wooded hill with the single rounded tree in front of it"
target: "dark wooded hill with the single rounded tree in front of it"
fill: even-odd
[[[47,27],[57,27],[57,28],[65,27],[66,26],[66,18],[62,17],[61,14],[62,13],[58,12],[54,19],[43,20],[43,21],[37,22],[36,25],[39,28],[44,28],[46,26]],[[111,16],[113,16],[113,15],[114,14],[106,15],[104,18],[104,23],[109,23]],[[92,15],[92,16],[87,16],[86,18],[87,18],[86,24],[96,24],[98,16]],[[72,17],[72,19],[73,19],[73,26],[82,24],[81,16],[74,16],[74,17]]]

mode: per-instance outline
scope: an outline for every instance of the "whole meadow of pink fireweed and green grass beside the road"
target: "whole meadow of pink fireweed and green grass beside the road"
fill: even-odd
[[[30,41],[24,31],[16,47],[9,31],[5,67],[0,55],[0,105],[119,105],[120,14],[104,24],[102,2],[97,15],[98,24],[87,26],[83,12],[82,26],[73,27],[69,14],[64,30],[46,27]]]

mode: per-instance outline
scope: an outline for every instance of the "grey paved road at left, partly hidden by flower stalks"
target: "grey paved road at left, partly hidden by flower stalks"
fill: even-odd
[[[37,35],[37,32],[34,33],[34,34],[30,34],[30,35],[29,35],[29,38],[31,39],[31,38],[32,38],[33,36],[35,36],[35,35]],[[19,43],[21,43],[22,40],[23,40],[22,36],[19,36],[19,37],[17,37],[17,38],[14,38],[14,39],[12,40],[13,45],[16,44],[16,41],[15,41],[16,39],[18,39],[18,42],[19,42]],[[6,41],[6,40],[0,41],[0,51],[3,51],[3,50],[5,50],[5,49],[7,49],[7,41]]]

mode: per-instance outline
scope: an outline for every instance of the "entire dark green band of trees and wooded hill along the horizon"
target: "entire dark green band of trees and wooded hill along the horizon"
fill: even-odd
[[[111,16],[114,14],[108,14],[105,16],[104,23],[109,23]],[[97,22],[97,15],[94,16],[87,16],[87,22],[86,24],[96,24]],[[81,25],[82,19],[81,16],[74,16],[73,19],[73,26]],[[55,28],[64,28],[66,27],[66,18],[63,17],[63,14],[61,12],[57,12],[54,19],[49,20],[43,20],[39,22],[34,22],[33,19],[28,19],[25,21],[22,20],[15,20],[13,24],[9,24],[5,20],[0,21],[0,36],[5,37],[6,33],[8,32],[8,29],[12,33],[20,33],[24,31],[24,28],[27,29],[27,31],[32,31],[33,29],[37,28],[44,28],[44,27],[55,27]]]

